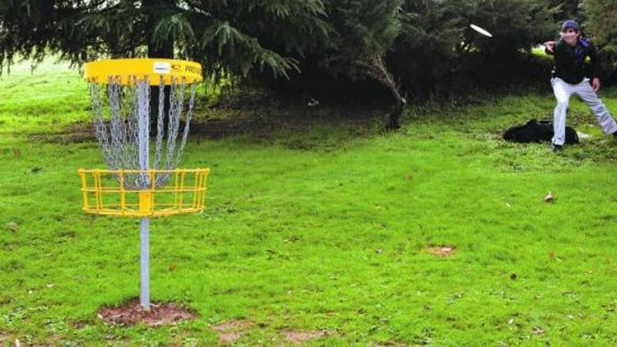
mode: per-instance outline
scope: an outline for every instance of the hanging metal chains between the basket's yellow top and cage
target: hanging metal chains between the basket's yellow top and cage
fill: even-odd
[[[165,81],[163,75],[158,83],[158,114],[156,118],[156,144],[154,147],[153,163],[149,167],[161,170],[173,170],[179,165],[180,159],[187,144],[189,127],[193,114],[197,83],[191,83],[191,95],[184,112],[184,128],[178,139],[180,123],[184,108],[184,91],[187,88],[185,79],[171,79],[168,95],[165,95]],[[130,76],[122,83],[118,76],[110,76],[107,88],[100,84],[89,83],[90,100],[92,102],[93,123],[97,140],[103,152],[107,167],[111,170],[140,168],[139,133],[147,131],[148,123],[139,121],[140,109],[148,111],[150,105],[150,84],[144,79]],[[107,89],[108,106],[104,107],[104,90]],[[168,97],[169,110],[165,115],[165,97]],[[142,101],[140,104],[140,100]],[[109,122],[105,112],[109,110]],[[165,124],[165,121],[167,124]],[[165,131],[166,130],[166,131]],[[164,154],[163,154],[164,153]],[[170,175],[168,173],[156,175],[155,185],[163,186]],[[126,189],[140,189],[151,182],[144,175],[125,175]]]

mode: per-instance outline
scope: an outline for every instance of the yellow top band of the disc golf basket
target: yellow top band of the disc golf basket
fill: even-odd
[[[126,86],[138,81],[148,80],[151,86],[171,84],[172,78],[187,83],[201,82],[201,64],[187,60],[158,58],[108,59],[87,62],[83,65],[83,78],[89,83],[107,84],[114,77],[117,83]]]

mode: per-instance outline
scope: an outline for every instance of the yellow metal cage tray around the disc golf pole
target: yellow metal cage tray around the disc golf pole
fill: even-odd
[[[84,170],[79,169],[83,212],[122,217],[157,217],[201,212],[205,208],[210,169]],[[147,189],[128,189],[129,175],[148,175]],[[168,175],[167,184],[155,186]]]

